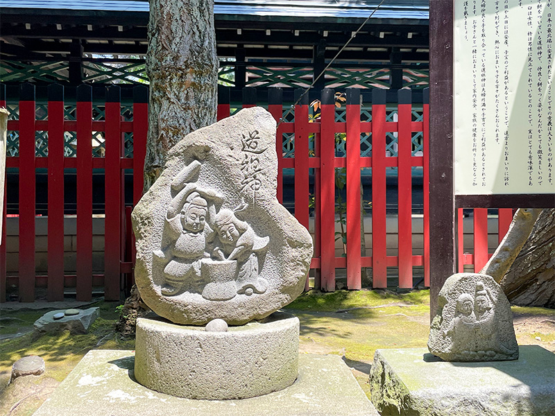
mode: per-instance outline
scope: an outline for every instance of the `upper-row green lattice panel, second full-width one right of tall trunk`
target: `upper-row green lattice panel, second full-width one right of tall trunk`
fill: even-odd
[[[328,68],[325,84],[329,88],[389,88],[390,70]]]

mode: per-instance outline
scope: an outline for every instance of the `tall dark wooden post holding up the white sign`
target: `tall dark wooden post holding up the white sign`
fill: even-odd
[[[454,273],[453,2],[429,2],[430,319],[438,293]]]

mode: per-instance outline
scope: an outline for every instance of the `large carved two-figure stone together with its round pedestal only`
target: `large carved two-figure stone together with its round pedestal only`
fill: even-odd
[[[312,239],[275,197],[277,174],[275,121],[260,107],[169,152],[132,216],[137,288],[160,316],[137,321],[139,383],[241,399],[295,381],[298,318],[273,313],[302,293]]]

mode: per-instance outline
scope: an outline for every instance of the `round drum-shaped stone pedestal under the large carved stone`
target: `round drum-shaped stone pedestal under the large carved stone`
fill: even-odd
[[[286,313],[227,332],[139,318],[135,379],[188,399],[257,397],[293,384],[298,345],[299,320]]]

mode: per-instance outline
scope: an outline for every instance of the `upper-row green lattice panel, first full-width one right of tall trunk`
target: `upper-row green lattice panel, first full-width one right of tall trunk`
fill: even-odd
[[[275,68],[248,66],[248,87],[309,87],[314,69],[307,67]]]

